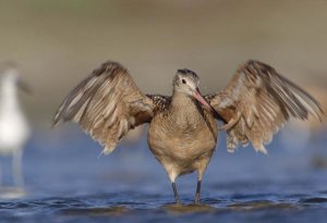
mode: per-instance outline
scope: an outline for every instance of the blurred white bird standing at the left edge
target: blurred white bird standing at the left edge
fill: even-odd
[[[29,137],[29,126],[20,106],[17,87],[24,91],[28,91],[28,88],[13,66],[7,66],[1,72],[0,79],[0,154],[12,156],[14,183],[23,187],[22,157]]]

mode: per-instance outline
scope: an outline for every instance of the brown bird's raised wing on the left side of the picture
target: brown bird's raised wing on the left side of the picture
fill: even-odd
[[[59,107],[53,125],[73,121],[110,153],[129,129],[152,120],[153,101],[119,63],[108,61],[80,83]]]

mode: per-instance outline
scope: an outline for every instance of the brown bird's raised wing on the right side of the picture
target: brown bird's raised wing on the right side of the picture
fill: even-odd
[[[206,96],[227,123],[227,147],[234,151],[239,144],[252,143],[256,151],[266,153],[265,144],[290,119],[320,120],[319,103],[271,66],[247,61],[239,67],[228,87]]]

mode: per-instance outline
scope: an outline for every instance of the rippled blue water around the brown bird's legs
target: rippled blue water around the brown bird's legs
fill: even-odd
[[[10,159],[0,160],[0,222],[325,223],[326,132],[305,144],[283,134],[268,156],[252,148],[228,153],[222,134],[204,177],[203,205],[192,205],[196,175],[190,174],[177,182],[183,206],[175,206],[145,136],[99,156],[101,148],[76,127],[37,132],[24,153],[24,190],[10,187]]]

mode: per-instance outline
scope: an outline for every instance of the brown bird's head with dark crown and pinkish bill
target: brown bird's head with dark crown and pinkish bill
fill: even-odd
[[[211,110],[211,106],[209,106],[208,102],[201,95],[198,84],[199,78],[195,72],[190,71],[187,69],[178,70],[173,78],[173,91],[179,94],[185,94],[197,100],[205,108]]]

